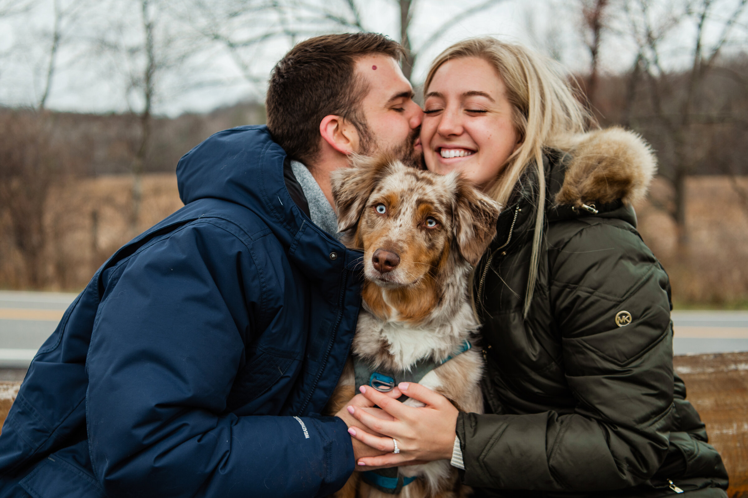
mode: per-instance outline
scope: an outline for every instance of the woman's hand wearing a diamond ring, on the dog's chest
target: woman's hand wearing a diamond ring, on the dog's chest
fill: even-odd
[[[399,383],[399,389],[410,398],[426,404],[425,407],[408,407],[376,389],[361,386],[361,393],[373,404],[392,416],[385,420],[376,416],[375,408],[347,407],[349,413],[361,422],[361,427],[351,427],[349,433],[361,443],[388,452],[379,456],[358,458],[361,470],[373,467],[397,467],[423,464],[435,460],[450,460],[455,443],[458,410],[438,392],[417,383]],[[366,428],[368,431],[364,430]],[[383,434],[384,437],[371,433]],[[399,453],[392,453],[397,440]]]

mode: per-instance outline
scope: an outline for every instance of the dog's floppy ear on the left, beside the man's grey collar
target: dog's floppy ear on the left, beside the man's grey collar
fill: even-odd
[[[354,155],[350,168],[340,168],[330,174],[332,196],[337,210],[337,231],[355,227],[374,187],[391,163],[389,157]]]

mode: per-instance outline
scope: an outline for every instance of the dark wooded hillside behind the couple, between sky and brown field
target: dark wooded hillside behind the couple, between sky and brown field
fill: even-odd
[[[687,75],[669,76],[671,88],[658,96],[643,88],[646,81],[632,85],[631,74],[604,76],[598,82],[595,114],[602,126],[620,125],[641,133],[657,153],[660,174],[673,177],[678,157],[670,127],[680,127],[679,105],[687,91]],[[580,79],[580,82],[583,82]],[[583,85],[583,83],[582,83]],[[637,88],[637,86],[639,88]],[[748,174],[748,56],[735,58],[722,74],[711,73],[702,94],[687,116],[688,130],[681,140],[687,142],[693,157],[689,174]],[[659,106],[659,110],[658,110]],[[36,115],[31,109],[0,107],[0,121],[24,120]],[[126,174],[131,172],[133,157],[141,137],[141,117],[135,114],[92,115],[73,112],[46,112],[43,115],[46,136],[52,136],[55,148],[67,149],[55,155],[74,151],[74,164],[66,169],[84,176]],[[663,118],[675,121],[663,123]],[[260,103],[238,103],[215,109],[207,114],[184,114],[177,118],[155,117],[144,156],[144,172],[174,171],[177,160],[212,133],[242,124],[264,124],[265,109]],[[20,130],[19,130],[20,131]],[[0,139],[2,140],[2,139]],[[0,147],[13,147],[2,141]],[[62,166],[62,165],[60,165]],[[0,165],[0,177],[3,174]],[[6,171],[7,172],[7,171]]]

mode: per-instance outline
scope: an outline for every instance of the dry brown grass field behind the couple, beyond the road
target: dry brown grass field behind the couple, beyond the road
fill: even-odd
[[[740,179],[748,189],[748,177]],[[129,231],[132,177],[102,176],[52,187],[45,208],[47,244],[44,288],[79,290]],[[182,207],[174,174],[147,174],[138,220],[142,231]],[[652,198],[666,198],[655,180]],[[669,273],[677,306],[748,306],[748,209],[728,177],[688,180],[690,243],[678,248],[675,223],[652,201],[637,206],[645,242]],[[0,233],[7,220],[0,219]],[[0,237],[0,288],[25,288],[23,264],[7,237]]]

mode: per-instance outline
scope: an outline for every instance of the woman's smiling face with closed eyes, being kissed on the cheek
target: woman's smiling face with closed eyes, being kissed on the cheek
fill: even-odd
[[[420,138],[429,171],[462,171],[488,189],[519,146],[512,104],[494,67],[475,57],[445,62],[427,89],[424,107]]]

